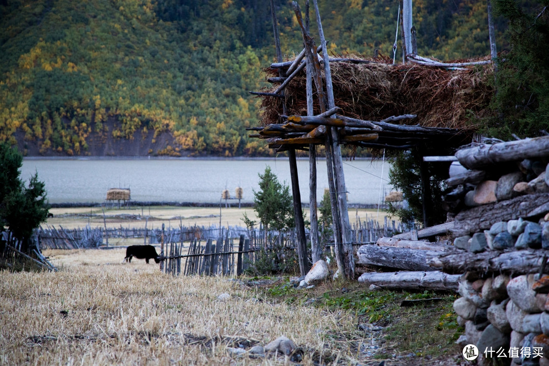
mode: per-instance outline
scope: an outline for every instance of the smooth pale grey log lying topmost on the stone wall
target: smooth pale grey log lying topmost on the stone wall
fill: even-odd
[[[479,169],[497,162],[517,161],[549,155],[549,136],[526,138],[492,145],[462,149],[456,152],[461,165]]]

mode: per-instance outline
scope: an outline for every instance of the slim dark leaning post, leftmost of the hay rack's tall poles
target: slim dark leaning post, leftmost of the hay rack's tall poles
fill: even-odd
[[[271,16],[273,21],[273,33],[275,36],[275,46],[277,61],[282,62],[282,50],[280,47],[280,38],[278,35],[278,24],[275,13],[275,4],[271,0]],[[279,76],[283,77],[283,71],[279,69]],[[282,108],[284,115],[288,115],[286,104],[282,102]],[[301,209],[301,194],[299,192],[299,180],[298,180],[298,165],[295,160],[295,149],[289,148],[289,160],[290,160],[290,177],[292,180],[292,195],[294,199],[294,218],[295,218],[295,230],[298,239],[298,259],[299,259],[299,270],[302,276],[306,275],[309,272],[309,262],[307,261],[307,243],[305,239],[305,224],[303,222],[303,211]]]

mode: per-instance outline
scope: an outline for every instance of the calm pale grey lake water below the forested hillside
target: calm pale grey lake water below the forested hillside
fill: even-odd
[[[217,203],[223,189],[231,196],[243,188],[243,202],[253,202],[259,189],[258,173],[266,166],[279,181],[290,185],[288,159],[35,159],[23,161],[21,177],[31,174],[46,183],[48,199],[60,202],[103,202],[109,188],[130,188],[135,201]],[[383,165],[383,167],[382,167]],[[383,174],[382,174],[383,170]],[[301,201],[309,201],[309,160],[298,160]],[[344,160],[350,204],[377,204],[389,193],[389,164],[360,159]],[[328,188],[326,160],[317,161],[320,201]],[[236,201],[229,201],[236,202]]]

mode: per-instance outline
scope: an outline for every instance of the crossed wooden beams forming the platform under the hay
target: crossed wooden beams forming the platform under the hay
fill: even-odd
[[[300,145],[324,144],[328,126],[338,127],[339,143],[369,148],[409,149],[419,144],[441,144],[455,138],[460,130],[453,128],[397,125],[395,121],[413,119],[416,115],[391,116],[382,121],[365,121],[341,116],[338,107],[316,116],[282,116],[285,123],[250,127],[257,131],[250,137],[266,139],[278,151]],[[337,114],[337,118],[328,117]]]

